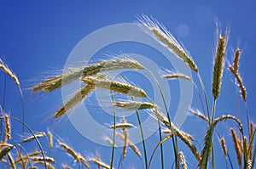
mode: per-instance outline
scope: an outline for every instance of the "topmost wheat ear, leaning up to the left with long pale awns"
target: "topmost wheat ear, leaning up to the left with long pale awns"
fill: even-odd
[[[182,59],[185,64],[189,65],[191,70],[198,72],[194,60],[189,56],[189,52],[177,42],[163,25],[160,25],[156,20],[151,20],[146,15],[139,17],[138,20],[140,21],[140,26],[143,28],[143,31],[146,31],[172,53],[176,54],[179,59]]]

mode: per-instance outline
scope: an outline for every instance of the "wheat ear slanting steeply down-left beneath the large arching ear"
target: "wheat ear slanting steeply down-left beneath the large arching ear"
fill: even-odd
[[[88,94],[93,92],[95,89],[94,85],[87,84],[84,87],[82,87],[77,93],[74,94],[74,96],[67,101],[66,104],[64,104],[59,110],[55,113],[55,119],[61,117],[62,115],[65,115],[67,111],[73,109],[74,106],[79,104]]]

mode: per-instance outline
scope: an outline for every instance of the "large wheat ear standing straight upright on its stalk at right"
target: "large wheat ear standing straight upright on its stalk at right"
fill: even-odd
[[[212,76],[212,96],[218,99],[220,93],[221,81],[224,70],[224,55],[226,50],[227,37],[220,36],[218,39],[218,47],[214,59],[213,76]]]

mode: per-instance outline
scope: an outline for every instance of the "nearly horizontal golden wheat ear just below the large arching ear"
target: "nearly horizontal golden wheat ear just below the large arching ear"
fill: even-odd
[[[83,82],[95,85],[96,87],[111,90],[113,92],[122,93],[128,96],[137,97],[137,98],[146,98],[147,94],[143,89],[138,87],[133,87],[129,84],[108,81],[106,79],[86,77],[82,79]]]

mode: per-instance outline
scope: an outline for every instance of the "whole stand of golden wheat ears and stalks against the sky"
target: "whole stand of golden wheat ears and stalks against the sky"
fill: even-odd
[[[49,153],[44,151],[41,146],[39,139],[40,138],[49,138],[49,149],[52,149],[57,145],[58,149],[63,149],[68,155],[73,158],[74,164],[79,164],[80,168],[86,167],[90,168],[92,166],[97,166],[98,168],[113,168],[114,166],[114,152],[117,148],[115,142],[116,137],[123,141],[122,147],[122,161],[125,160],[125,155],[127,153],[127,148],[131,148],[137,157],[143,161],[144,168],[148,169],[151,166],[152,160],[154,158],[154,152],[156,149],[160,149],[160,168],[164,168],[164,164],[166,163],[162,144],[168,140],[172,139],[172,147],[173,147],[173,164],[174,168],[188,168],[185,160],[185,156],[182,151],[179,151],[178,144],[183,142],[191,151],[192,155],[195,157],[195,161],[197,161],[197,166],[199,168],[207,168],[215,167],[214,161],[214,144],[213,144],[213,136],[214,134],[218,135],[218,132],[215,130],[215,127],[218,125],[220,121],[234,121],[237,124],[237,128],[230,128],[230,139],[232,139],[234,144],[234,149],[236,150],[236,159],[234,162],[231,160],[231,156],[225,144],[224,138],[219,138],[219,144],[223,150],[223,158],[226,161],[226,167],[230,166],[231,168],[244,168],[244,169],[253,169],[254,161],[255,161],[255,145],[253,144],[254,136],[255,136],[255,125],[253,121],[249,121],[248,114],[245,115],[247,118],[247,130],[241,124],[240,117],[236,117],[233,115],[222,115],[220,117],[215,117],[215,108],[216,101],[221,91],[221,83],[223,78],[224,71],[224,60],[226,54],[226,46],[229,40],[229,29],[224,31],[224,34],[221,33],[218,29],[218,40],[215,49],[215,57],[213,62],[212,69],[212,110],[209,110],[209,102],[207,100],[207,93],[204,87],[204,83],[201,80],[200,71],[195,65],[194,59],[191,58],[188,51],[186,51],[177,40],[172,37],[172,34],[166,30],[166,28],[160,25],[156,20],[151,19],[145,15],[138,18],[138,25],[142,28],[143,31],[147,32],[148,35],[154,37],[157,42],[160,42],[161,45],[165,46],[175,54],[179,59],[182,59],[183,62],[189,66],[189,68],[195,72],[195,75],[199,79],[201,85],[201,91],[205,99],[205,106],[207,108],[207,115],[203,115],[201,113],[193,112],[193,115],[200,118],[201,121],[205,121],[207,123],[204,144],[202,145],[202,149],[198,146],[195,146],[195,138],[193,138],[189,133],[186,133],[180,130],[178,127],[172,123],[168,109],[166,110],[160,109],[160,106],[154,103],[152,99],[150,99],[147,93],[143,90],[143,88],[135,87],[125,80],[121,78],[121,82],[116,82],[110,80],[108,75],[113,73],[114,70],[121,69],[131,69],[131,70],[147,70],[143,65],[138,63],[134,59],[109,59],[104,60],[102,62],[87,65],[82,68],[77,68],[68,71],[67,73],[63,73],[61,75],[55,76],[53,78],[49,78],[44,82],[40,82],[37,86],[32,87],[32,93],[44,92],[44,93],[52,93],[55,90],[60,89],[64,85],[67,85],[70,82],[80,81],[84,85],[73,94],[71,99],[67,100],[67,102],[61,106],[55,112],[54,118],[60,118],[62,115],[65,115],[68,111],[72,110],[77,104],[82,102],[86,97],[90,97],[90,93],[93,93],[96,88],[102,88],[109,90],[112,95],[112,105],[113,105],[113,138],[106,138],[106,142],[108,142],[111,147],[111,156],[110,162],[107,164],[102,162],[99,155],[96,155],[96,158],[85,158],[80,153],[73,150],[67,144],[57,141],[57,138],[53,138],[53,134],[49,131],[47,132],[38,132],[34,133],[32,130],[26,125],[26,123],[22,120],[19,120],[15,117],[12,117],[6,114],[1,107],[1,125],[4,125],[4,128],[1,132],[1,136],[3,135],[3,139],[1,137],[0,141],[0,161],[1,166],[6,166],[8,168],[55,168],[62,167],[64,168],[72,168],[71,166],[67,166],[64,164],[58,164],[54,157],[52,157]],[[232,64],[229,65],[228,70],[230,70],[231,75],[235,77],[237,89],[240,90],[241,93],[241,101],[246,104],[247,100],[247,91],[243,85],[241,80],[241,76],[239,75],[239,59],[241,55],[241,50],[239,48],[236,49],[236,53],[234,54],[234,59],[232,60]],[[10,76],[15,84],[20,88],[20,82],[17,76],[9,69],[7,65],[3,63],[0,59],[0,68]],[[150,75],[154,76],[149,70],[147,70]],[[192,82],[192,79],[189,76],[185,76],[183,74],[170,74],[162,76],[166,80],[170,79],[182,79],[185,81]],[[154,78],[156,79],[156,78]],[[158,84],[159,92],[161,93],[163,102],[165,103],[164,94],[161,91],[160,84],[155,80],[156,84]],[[21,90],[20,90],[21,93]],[[116,94],[127,95],[131,99],[119,101],[115,98]],[[22,93],[21,93],[22,96]],[[136,101],[136,98],[141,98],[144,101]],[[116,109],[123,110],[134,110],[137,115],[137,121],[139,123],[141,137],[143,140],[143,153],[140,149],[137,148],[136,144],[133,144],[129,139],[129,129],[134,127],[133,124],[128,123],[125,120],[125,117],[121,118],[122,121],[120,123],[117,122],[116,117]],[[157,145],[155,145],[155,149],[151,156],[147,155],[147,147],[145,143],[145,139],[143,138],[143,128],[141,127],[141,120],[139,111],[147,110],[147,112],[154,116],[155,120],[159,123],[159,138],[160,141]],[[23,112],[24,113],[24,112]],[[31,136],[28,138],[24,138],[22,134],[22,140],[18,144],[13,140],[11,133],[10,121],[19,121],[22,124],[23,132],[24,129],[27,129],[31,132]],[[247,133],[247,134],[245,134]],[[247,135],[247,136],[246,136]],[[165,136],[165,138],[163,137]],[[29,142],[36,142],[38,144],[38,148],[34,149],[32,152],[27,152],[24,148],[25,145]],[[15,157],[15,158],[14,158]],[[149,158],[150,157],[150,158]],[[169,166],[169,165],[168,165]],[[122,167],[122,166],[121,166]]]

